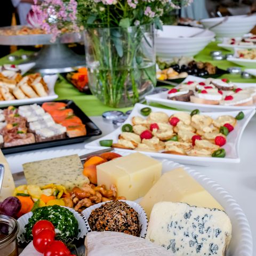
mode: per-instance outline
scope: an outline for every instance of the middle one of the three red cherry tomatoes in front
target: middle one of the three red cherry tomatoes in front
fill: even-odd
[[[55,232],[50,229],[41,230],[33,237],[33,245],[38,252],[44,253],[48,244],[54,241]]]

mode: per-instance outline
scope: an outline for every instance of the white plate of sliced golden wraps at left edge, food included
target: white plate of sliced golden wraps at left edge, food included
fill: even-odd
[[[0,78],[0,83],[4,85],[0,90],[0,107],[57,99],[58,95],[54,92],[57,79],[58,75],[41,77],[39,74],[23,76],[17,81],[12,78]]]

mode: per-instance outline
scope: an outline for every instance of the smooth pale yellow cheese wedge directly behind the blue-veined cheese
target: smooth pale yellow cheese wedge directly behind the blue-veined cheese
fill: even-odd
[[[154,204],[163,201],[223,210],[213,196],[182,168],[164,173],[142,198],[140,205],[149,218]]]

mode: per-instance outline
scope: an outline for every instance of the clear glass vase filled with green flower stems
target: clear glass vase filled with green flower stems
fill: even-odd
[[[89,87],[110,107],[145,100],[156,85],[154,26],[87,28],[85,55]]]

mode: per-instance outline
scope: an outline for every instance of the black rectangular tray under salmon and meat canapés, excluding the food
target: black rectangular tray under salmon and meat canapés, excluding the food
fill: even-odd
[[[51,101],[49,101],[49,102],[51,102]],[[65,138],[65,139],[52,140],[52,141],[36,142],[36,143],[31,143],[31,144],[21,145],[21,146],[15,146],[15,147],[7,147],[7,148],[3,147],[3,148],[1,148],[3,154],[20,153],[20,152],[23,152],[23,151],[42,149],[42,148],[50,148],[50,147],[57,147],[57,146],[79,143],[79,142],[83,142],[86,139],[89,139],[93,136],[98,136],[102,133],[101,130],[99,129],[99,127],[97,125],[95,125],[91,121],[91,119],[83,113],[83,111],[75,104],[74,101],[72,101],[72,100],[57,100],[55,102],[64,102],[64,103],[67,104],[68,108],[73,109],[74,114],[82,120],[83,124],[85,124],[87,134],[84,135],[84,136],[79,136],[79,137],[74,137],[74,138]],[[37,104],[39,106],[42,106],[43,103],[44,102],[37,103]],[[25,106],[25,105],[31,105],[31,104],[23,104],[23,105],[19,105],[19,106]],[[15,107],[19,107],[19,106],[15,106]],[[1,109],[5,109],[5,108],[1,108]]]

